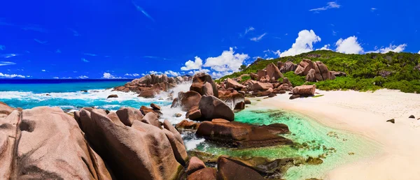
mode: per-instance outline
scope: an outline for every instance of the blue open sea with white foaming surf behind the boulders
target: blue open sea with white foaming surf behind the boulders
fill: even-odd
[[[56,82],[57,81],[57,82]],[[118,110],[120,107],[141,105],[170,105],[172,102],[161,98],[139,98],[136,93],[112,91],[128,80],[26,80],[25,83],[0,83],[0,101],[11,107],[29,109],[37,106],[61,107],[63,110],[78,110],[81,107],[97,107]],[[87,90],[82,92],[80,90]],[[49,96],[47,96],[47,94]],[[117,94],[119,98],[107,97]]]

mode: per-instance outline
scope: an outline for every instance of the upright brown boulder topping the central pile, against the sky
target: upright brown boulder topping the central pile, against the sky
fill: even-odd
[[[206,92],[208,92],[208,87],[205,86],[206,82],[209,82],[211,84],[211,87],[213,89],[213,96],[218,97],[218,91],[216,88],[216,84],[214,83],[213,79],[211,79],[210,75],[207,75],[206,73],[197,73],[193,77],[193,84],[191,84],[190,91],[196,91],[197,93],[200,93],[200,95],[206,95]],[[210,95],[209,93],[207,93]]]

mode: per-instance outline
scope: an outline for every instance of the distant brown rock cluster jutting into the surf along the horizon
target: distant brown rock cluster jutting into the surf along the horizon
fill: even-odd
[[[124,86],[115,87],[114,91],[135,92],[139,93],[139,97],[153,98],[161,91],[168,91],[176,87],[176,84],[191,81],[190,76],[167,77],[167,75],[145,75],[139,79],[127,82]]]

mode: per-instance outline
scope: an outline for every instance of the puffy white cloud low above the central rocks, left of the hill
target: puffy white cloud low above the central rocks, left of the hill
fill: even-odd
[[[244,63],[245,59],[248,59],[248,54],[234,54],[233,48],[230,47],[229,51],[223,51],[218,57],[209,57],[204,63],[204,67],[209,67],[216,71],[237,71]]]

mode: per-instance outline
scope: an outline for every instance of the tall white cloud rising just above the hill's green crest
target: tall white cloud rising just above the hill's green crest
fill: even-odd
[[[314,46],[312,44],[318,41],[321,41],[321,38],[316,36],[313,30],[302,30],[297,34],[296,41],[293,43],[292,47],[281,53],[280,57],[289,57],[302,54],[304,52],[310,52],[314,50]]]

